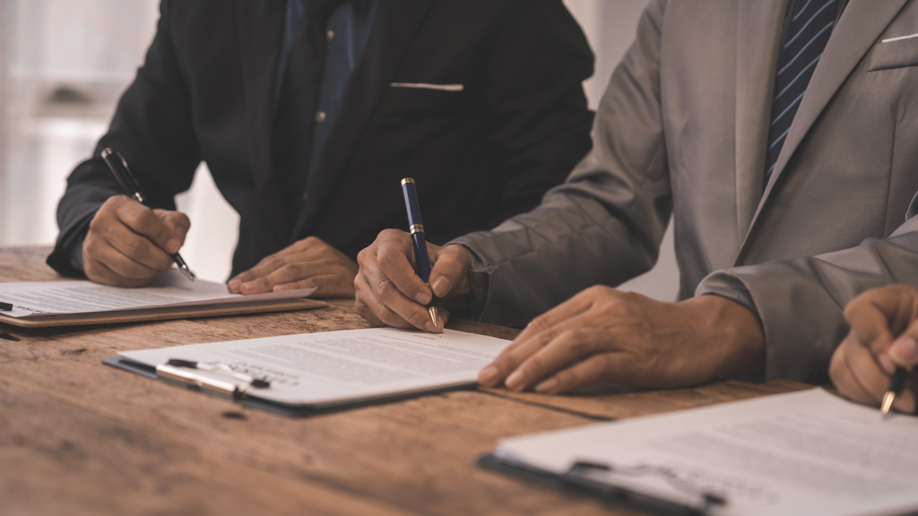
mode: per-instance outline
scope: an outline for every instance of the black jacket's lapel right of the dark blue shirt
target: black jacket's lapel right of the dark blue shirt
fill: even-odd
[[[397,72],[405,51],[420,28],[433,0],[380,0],[364,55],[348,77],[341,106],[316,169],[308,185],[308,197],[297,219],[292,240],[304,238],[311,220],[355,152],[364,128]]]

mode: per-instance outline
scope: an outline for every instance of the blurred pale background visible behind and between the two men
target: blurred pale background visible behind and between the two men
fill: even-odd
[[[596,53],[584,84],[594,109],[634,36],[647,0],[565,0]],[[0,245],[50,245],[73,167],[106,131],[143,61],[159,0],[0,0]],[[192,220],[182,254],[198,275],[225,281],[238,216],[207,166],[177,199]],[[622,286],[673,300],[678,273],[667,231],[653,271]]]

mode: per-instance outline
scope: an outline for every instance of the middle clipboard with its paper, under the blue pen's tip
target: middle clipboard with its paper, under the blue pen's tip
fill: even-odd
[[[444,330],[319,331],[123,351],[103,364],[288,417],[477,387],[509,341]]]

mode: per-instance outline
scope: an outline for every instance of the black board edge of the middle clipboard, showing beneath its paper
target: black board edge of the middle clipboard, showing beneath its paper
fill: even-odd
[[[382,405],[385,403],[392,403],[395,401],[401,401],[404,399],[411,398],[420,398],[421,396],[428,396],[431,394],[440,394],[442,392],[451,392],[455,390],[465,390],[465,389],[474,389],[477,387],[477,384],[469,384],[467,386],[447,386],[447,387],[432,387],[429,389],[423,389],[418,391],[411,391],[406,393],[399,393],[393,395],[386,395],[385,397],[380,398],[371,398],[371,399],[360,399],[355,401],[344,401],[341,404],[328,407],[315,407],[310,405],[303,406],[293,406],[286,405],[284,403],[277,403],[269,399],[257,398],[254,396],[241,395],[238,397],[222,396],[214,392],[210,392],[200,387],[195,387],[187,385],[181,382],[176,382],[168,378],[163,378],[156,375],[156,369],[149,365],[142,365],[132,360],[125,360],[118,356],[113,356],[110,358],[103,358],[102,364],[110,365],[118,369],[129,371],[131,373],[136,373],[140,376],[146,376],[148,378],[159,380],[167,384],[173,385],[175,387],[184,387],[188,390],[194,390],[213,396],[215,398],[229,399],[234,403],[238,403],[243,407],[249,407],[252,409],[261,409],[267,410],[268,412],[273,412],[274,414],[279,414],[281,416],[286,416],[288,418],[303,418],[308,416],[319,416],[322,414],[329,414],[332,412],[339,412],[341,410],[348,409],[357,409],[360,407],[369,407],[373,405]]]

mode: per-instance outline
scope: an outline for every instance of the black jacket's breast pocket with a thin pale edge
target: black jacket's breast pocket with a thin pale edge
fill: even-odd
[[[443,117],[459,115],[470,107],[462,84],[393,83],[379,105],[379,115]]]

